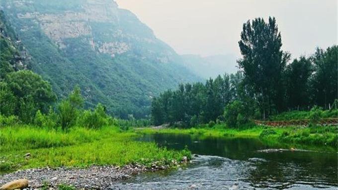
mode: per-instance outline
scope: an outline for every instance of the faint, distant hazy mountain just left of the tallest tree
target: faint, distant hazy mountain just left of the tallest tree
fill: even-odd
[[[198,55],[182,55],[182,63],[192,72],[204,79],[216,78],[217,75],[235,73],[238,68],[236,57],[233,55],[215,55],[201,57]]]

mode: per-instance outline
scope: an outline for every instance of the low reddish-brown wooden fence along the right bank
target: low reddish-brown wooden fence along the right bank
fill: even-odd
[[[284,126],[308,126],[311,120],[288,120],[288,121],[258,121],[254,120],[256,125],[284,127]],[[318,124],[320,125],[338,125],[338,118],[324,118]]]

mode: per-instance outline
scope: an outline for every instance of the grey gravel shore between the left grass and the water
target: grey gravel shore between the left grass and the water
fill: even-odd
[[[42,168],[17,171],[0,176],[0,185],[17,179],[27,179],[29,189],[38,189],[48,184],[50,190],[57,189],[59,184],[72,185],[76,189],[106,189],[120,180],[126,180],[132,175],[146,171],[166,169],[168,166],[146,168],[142,165],[91,166],[88,168]]]

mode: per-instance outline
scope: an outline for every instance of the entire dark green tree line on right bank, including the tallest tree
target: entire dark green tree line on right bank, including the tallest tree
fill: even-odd
[[[250,119],[291,110],[310,110],[315,105],[331,109],[337,99],[338,46],[317,48],[309,56],[290,62],[282,51],[276,20],[256,18],[243,24],[236,74],[180,84],[152,100],[154,125],[197,124],[228,121],[230,126]]]

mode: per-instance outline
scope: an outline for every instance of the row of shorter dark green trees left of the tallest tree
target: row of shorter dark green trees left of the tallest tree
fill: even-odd
[[[181,122],[184,126],[216,121],[222,116],[224,105],[239,94],[237,82],[242,74],[225,74],[203,83],[180,84],[178,90],[168,90],[153,99],[154,125]]]

